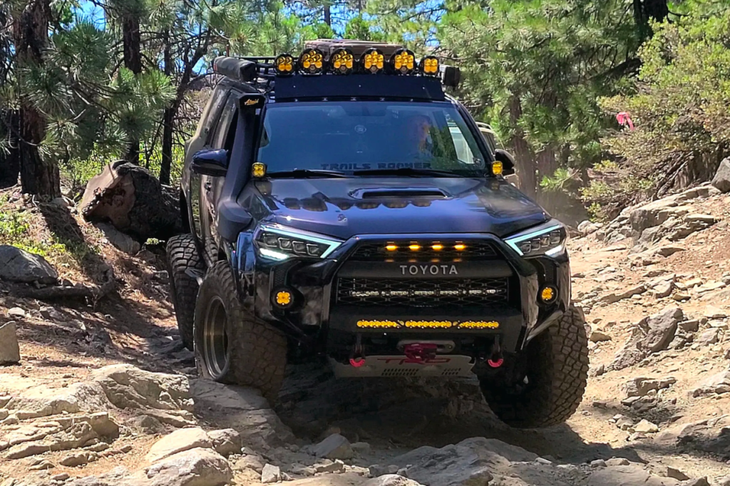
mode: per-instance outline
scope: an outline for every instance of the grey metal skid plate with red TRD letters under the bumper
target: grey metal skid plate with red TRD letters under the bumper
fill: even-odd
[[[437,355],[424,362],[409,360],[404,355],[368,356],[362,366],[337,363],[330,358],[334,376],[360,377],[471,377],[472,358],[461,355]]]

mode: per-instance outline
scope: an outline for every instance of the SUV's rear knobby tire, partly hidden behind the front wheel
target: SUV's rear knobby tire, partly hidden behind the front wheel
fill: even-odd
[[[167,240],[167,275],[170,296],[175,309],[177,330],[188,350],[193,350],[193,320],[198,298],[198,281],[185,273],[187,269],[205,270],[195,239],[191,234],[172,236]]]

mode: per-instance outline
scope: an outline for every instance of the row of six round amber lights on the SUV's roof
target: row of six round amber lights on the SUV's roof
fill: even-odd
[[[395,74],[412,74],[418,68],[420,74],[437,76],[439,74],[439,60],[433,55],[427,55],[416,65],[415,54],[407,49],[396,50],[388,59],[389,70]],[[366,50],[359,59],[346,48],[335,50],[325,58],[324,53],[315,48],[305,49],[299,58],[291,54],[280,54],[274,59],[274,71],[280,76],[301,72],[301,74],[350,74],[353,71],[363,71],[377,74],[386,69],[385,55],[380,49],[372,47]]]

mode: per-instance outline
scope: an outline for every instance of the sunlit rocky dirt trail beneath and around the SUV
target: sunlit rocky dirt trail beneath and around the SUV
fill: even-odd
[[[50,258],[53,270],[0,246],[0,361],[20,358],[0,366],[0,485],[730,485],[720,189],[579,226],[569,250],[591,326],[588,389],[566,424],[541,431],[499,423],[470,379],[334,380],[295,364],[269,404],[196,377],[160,247],[129,250],[80,220],[93,258]],[[24,207],[42,239],[56,209]],[[117,290],[96,300],[39,301],[10,283],[45,288],[58,271],[48,282],[78,287],[108,269]]]

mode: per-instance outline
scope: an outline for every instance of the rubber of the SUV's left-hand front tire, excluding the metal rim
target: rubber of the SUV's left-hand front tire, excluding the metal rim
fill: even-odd
[[[217,299],[226,311],[228,358],[219,377],[204,362],[204,321],[207,306]],[[270,403],[279,394],[287,362],[287,340],[271,325],[250,315],[241,304],[231,267],[215,263],[205,274],[195,312],[196,363],[199,374],[218,382],[258,388]]]

